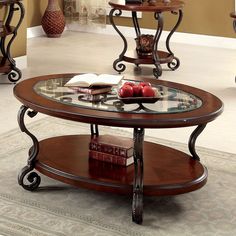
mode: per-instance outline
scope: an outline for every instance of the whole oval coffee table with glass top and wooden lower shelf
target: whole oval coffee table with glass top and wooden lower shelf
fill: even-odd
[[[201,188],[207,181],[207,169],[200,163],[195,142],[208,122],[223,111],[214,95],[183,84],[142,78],[161,93],[155,103],[124,104],[116,88],[89,102],[64,84],[75,74],[40,76],[21,81],[14,94],[23,105],[18,113],[22,132],[30,136],[27,165],[18,176],[26,190],[35,190],[41,181],[37,170],[53,179],[99,191],[132,194],[132,218],[143,220],[143,195],[175,195]],[[140,78],[134,78],[140,80]],[[24,123],[24,117],[38,112],[50,116],[89,123],[91,135],[66,135],[38,141]],[[133,128],[134,164],[112,165],[88,158],[91,136],[99,135],[98,125]],[[196,126],[189,138],[191,155],[170,147],[144,141],[145,128]],[[63,147],[63,148],[61,148]]]

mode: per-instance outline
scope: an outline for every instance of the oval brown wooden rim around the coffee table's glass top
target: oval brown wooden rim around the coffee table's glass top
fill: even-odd
[[[52,78],[71,78],[75,74],[45,75],[19,82],[14,87],[14,95],[27,107],[58,118],[116,127],[171,128],[206,124],[213,121],[223,111],[223,104],[216,96],[184,84],[178,84],[150,78],[134,78],[153,84],[169,86],[191,93],[202,100],[202,106],[196,110],[172,114],[137,114],[100,111],[79,106],[70,106],[49,100],[37,94],[33,87],[42,80]]]

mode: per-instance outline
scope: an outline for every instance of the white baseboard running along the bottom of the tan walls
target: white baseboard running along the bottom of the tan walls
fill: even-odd
[[[116,31],[111,25],[106,27],[86,27],[78,26],[77,23],[70,24],[65,30],[81,31],[97,34],[117,35]],[[119,30],[125,37],[136,37],[135,31],[132,27],[119,26]],[[232,29],[233,30],[233,29]],[[156,31],[152,29],[141,29],[143,34],[155,34]],[[163,31],[161,40],[164,41],[168,35],[168,31]],[[36,26],[27,29],[27,38],[38,37],[45,35],[41,26]],[[218,37],[210,35],[190,34],[175,32],[171,37],[172,43],[183,43],[190,45],[199,45],[216,48],[236,49],[236,38]]]

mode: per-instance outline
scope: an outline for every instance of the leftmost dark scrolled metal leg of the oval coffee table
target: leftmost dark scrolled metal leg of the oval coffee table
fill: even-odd
[[[30,148],[29,151],[29,158],[27,161],[27,165],[20,171],[19,175],[18,175],[18,183],[19,185],[21,185],[24,189],[26,190],[35,190],[40,182],[41,182],[41,178],[40,176],[36,173],[36,172],[31,172],[34,169],[35,166],[35,160],[36,157],[38,155],[39,152],[39,142],[37,140],[37,138],[31,134],[28,129],[25,127],[24,124],[24,116],[26,111],[29,108],[26,106],[21,106],[19,112],[18,112],[18,124],[20,126],[20,129],[22,132],[25,132],[27,135],[30,136],[30,138],[33,141],[33,146]],[[37,112],[35,111],[28,111],[27,115],[29,117],[34,117],[37,114]],[[29,184],[24,183],[24,178],[27,176],[27,180],[29,182]]]

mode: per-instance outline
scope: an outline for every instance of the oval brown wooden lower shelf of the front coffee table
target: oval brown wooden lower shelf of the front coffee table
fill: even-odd
[[[62,182],[114,193],[132,193],[134,165],[121,167],[88,159],[89,135],[49,138],[40,142],[36,169]],[[183,152],[144,143],[144,194],[194,191],[207,181],[207,170]]]

